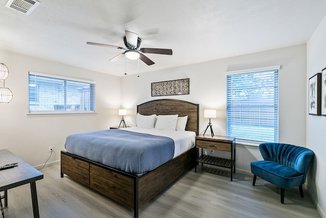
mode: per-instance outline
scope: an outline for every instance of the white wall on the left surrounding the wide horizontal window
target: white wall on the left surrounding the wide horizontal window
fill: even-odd
[[[120,78],[99,72],[0,51],[0,62],[9,68],[6,87],[13,92],[9,104],[0,104],[0,149],[8,149],[33,166],[60,160],[66,136],[75,132],[107,129],[120,122]],[[96,82],[96,115],[28,117],[29,71],[93,80]],[[3,83],[0,82],[0,86]]]

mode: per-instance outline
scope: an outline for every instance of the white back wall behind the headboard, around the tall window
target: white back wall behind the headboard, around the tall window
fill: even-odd
[[[198,103],[199,132],[205,130],[208,119],[204,109],[216,109],[212,119],[215,135],[226,135],[226,71],[281,65],[279,71],[279,141],[305,147],[306,142],[306,44],[249,55],[213,60],[131,75],[122,78],[121,105],[128,109],[127,125],[135,126],[138,104],[155,99],[181,99]],[[138,77],[139,76],[139,77]],[[190,94],[151,97],[151,83],[175,79],[190,79]],[[250,162],[262,159],[257,147],[237,146],[236,170],[250,173]]]

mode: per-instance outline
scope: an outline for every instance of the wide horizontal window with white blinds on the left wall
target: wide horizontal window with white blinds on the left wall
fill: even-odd
[[[29,73],[30,113],[95,112],[95,83]]]

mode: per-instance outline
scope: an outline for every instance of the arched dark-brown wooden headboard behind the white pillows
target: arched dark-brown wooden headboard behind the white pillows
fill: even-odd
[[[174,99],[158,99],[137,105],[137,112],[142,115],[188,115],[185,130],[196,132],[198,135],[199,104]]]

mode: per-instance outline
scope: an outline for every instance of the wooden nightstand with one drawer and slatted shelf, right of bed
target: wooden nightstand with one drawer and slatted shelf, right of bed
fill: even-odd
[[[206,163],[214,166],[226,167],[235,173],[235,138],[227,136],[211,136],[198,135],[196,136],[197,156],[199,156],[198,149],[202,149],[202,155],[196,159],[195,173],[197,172],[197,163]],[[213,157],[203,154],[203,149],[230,152],[230,159]]]

